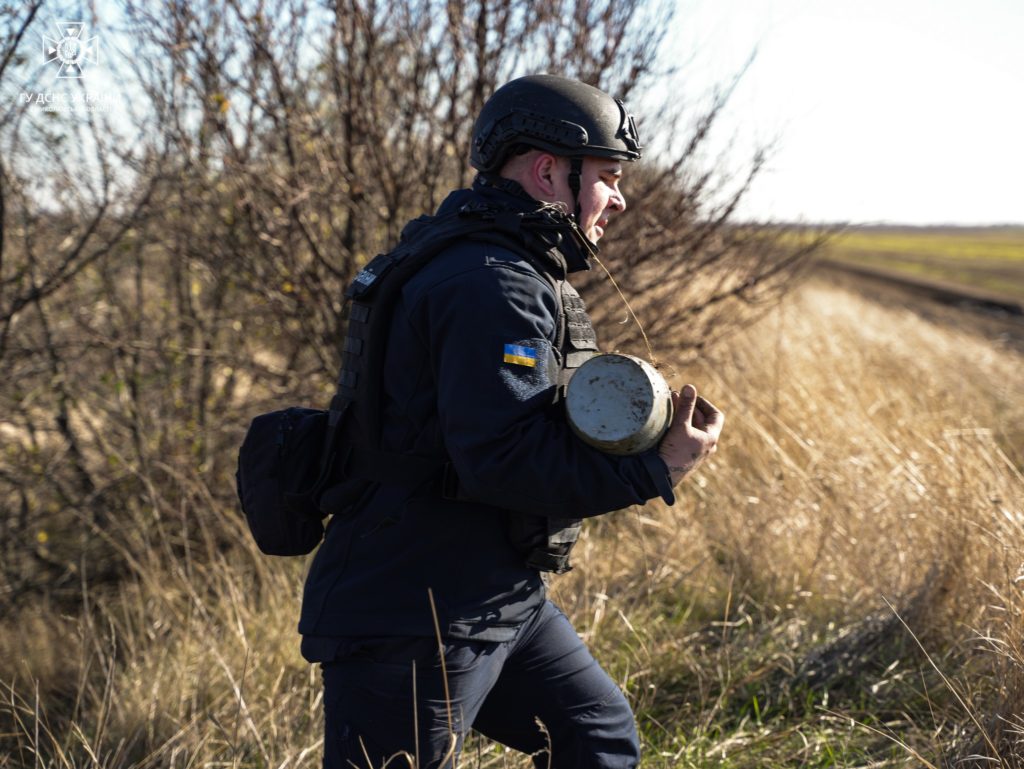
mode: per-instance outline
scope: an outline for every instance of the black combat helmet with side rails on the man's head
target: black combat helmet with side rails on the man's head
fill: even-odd
[[[497,171],[520,144],[565,157],[640,159],[640,137],[623,102],[557,75],[512,80],[487,99],[473,125],[470,163]]]

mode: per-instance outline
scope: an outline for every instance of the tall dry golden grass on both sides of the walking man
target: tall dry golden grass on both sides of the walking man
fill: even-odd
[[[719,454],[675,507],[591,521],[552,591],[643,766],[1024,766],[1021,355],[808,283],[677,368],[727,414]],[[182,553],[129,517],[130,579],[82,564],[81,609],[3,617],[0,767],[318,765],[304,563],[207,518]],[[462,766],[527,762],[471,740]]]

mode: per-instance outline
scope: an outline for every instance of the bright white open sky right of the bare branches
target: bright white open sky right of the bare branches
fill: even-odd
[[[691,98],[757,51],[718,131],[777,140],[748,215],[1024,223],[1024,0],[678,2]]]

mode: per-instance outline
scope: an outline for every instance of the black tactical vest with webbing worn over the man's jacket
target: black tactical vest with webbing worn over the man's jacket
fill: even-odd
[[[597,338],[583,300],[562,277],[555,257],[572,224],[559,213],[526,213],[464,206],[457,214],[421,216],[402,230],[392,251],[371,260],[345,292],[349,300],[348,330],[342,352],[338,389],[331,401],[326,456],[333,468],[321,497],[326,513],[340,513],[365,494],[368,482],[416,486],[436,479],[445,499],[466,500],[454,466],[437,457],[385,452],[381,448],[384,354],[395,305],[404,284],[433,256],[457,241],[493,243],[528,260],[552,285],[560,312],[555,340],[561,369],[557,403],[572,373],[597,352]],[[571,234],[571,231],[569,231]],[[509,511],[510,543],[525,562],[541,571],[562,573],[580,536],[581,521]]]

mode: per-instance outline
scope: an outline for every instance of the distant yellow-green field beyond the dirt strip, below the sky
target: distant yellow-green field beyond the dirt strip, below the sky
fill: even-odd
[[[1024,227],[854,227],[823,256],[1024,299]]]

